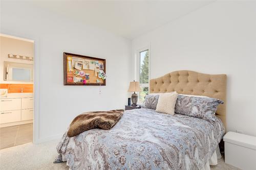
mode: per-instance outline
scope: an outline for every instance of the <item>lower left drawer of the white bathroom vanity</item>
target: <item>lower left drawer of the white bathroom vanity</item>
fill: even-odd
[[[11,123],[18,122],[22,120],[20,110],[12,110],[12,111],[1,111],[0,112],[0,123]]]

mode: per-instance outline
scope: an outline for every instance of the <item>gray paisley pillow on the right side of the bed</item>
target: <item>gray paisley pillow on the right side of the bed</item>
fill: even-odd
[[[223,102],[214,98],[178,95],[175,113],[215,121],[215,112]]]

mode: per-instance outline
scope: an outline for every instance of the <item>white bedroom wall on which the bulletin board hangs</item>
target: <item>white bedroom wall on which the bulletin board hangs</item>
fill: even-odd
[[[124,108],[131,81],[130,40],[31,2],[1,1],[1,33],[35,40],[36,142],[59,137],[82,112]],[[105,58],[106,86],[63,86],[63,52]]]

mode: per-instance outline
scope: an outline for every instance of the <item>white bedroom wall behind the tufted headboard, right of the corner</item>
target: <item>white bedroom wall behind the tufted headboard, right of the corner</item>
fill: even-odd
[[[151,78],[182,69],[226,74],[227,131],[256,136],[255,3],[211,3],[134,39],[132,55],[150,43]]]

